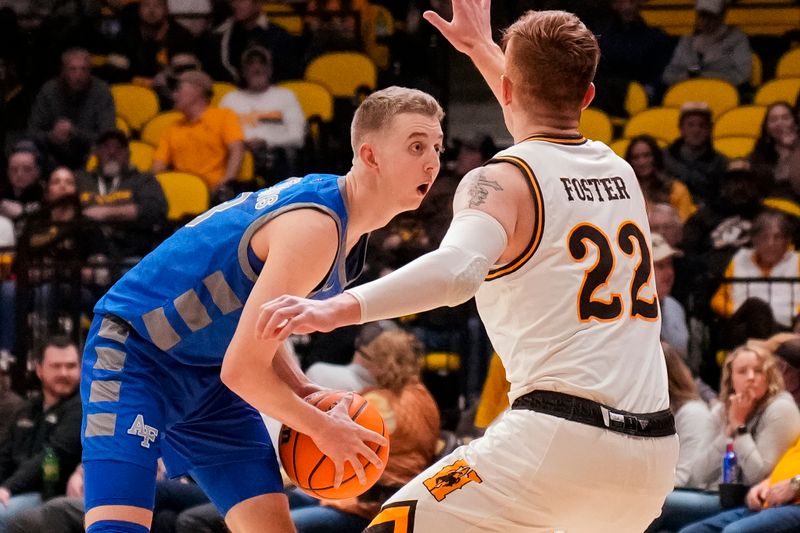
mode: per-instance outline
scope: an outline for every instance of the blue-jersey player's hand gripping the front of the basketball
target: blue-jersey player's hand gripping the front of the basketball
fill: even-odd
[[[350,405],[353,403],[353,393],[345,394],[333,408],[327,412],[330,424],[320,428],[314,435],[310,435],[317,448],[328,456],[333,462],[336,475],[334,488],[342,484],[344,468],[350,463],[362,485],[367,483],[367,475],[359,456],[373,463],[378,469],[383,468],[383,461],[366,443],[373,442],[379,446],[387,446],[389,439],[360,426],[350,418]]]

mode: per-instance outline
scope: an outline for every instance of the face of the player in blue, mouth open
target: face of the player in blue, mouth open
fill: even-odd
[[[444,135],[435,117],[402,113],[376,139],[381,179],[404,210],[416,209],[439,174]]]

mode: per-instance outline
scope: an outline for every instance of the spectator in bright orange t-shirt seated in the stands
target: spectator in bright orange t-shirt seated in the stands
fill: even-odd
[[[233,195],[230,183],[242,166],[244,134],[233,111],[209,106],[212,90],[204,72],[190,70],[178,77],[173,99],[184,118],[164,133],[152,170],[196,174],[218,201]]]

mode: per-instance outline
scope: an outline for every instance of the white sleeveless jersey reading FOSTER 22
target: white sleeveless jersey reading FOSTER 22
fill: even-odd
[[[605,144],[532,137],[495,156],[528,180],[535,227],[476,295],[511,383],[636,413],[666,409],[650,228],[631,167]]]

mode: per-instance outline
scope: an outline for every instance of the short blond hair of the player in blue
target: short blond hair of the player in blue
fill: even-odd
[[[401,113],[433,117],[439,122],[444,118],[442,106],[428,93],[397,86],[375,91],[367,96],[353,116],[350,126],[353,155],[357,157],[358,147],[367,135],[388,127],[392,119]]]

